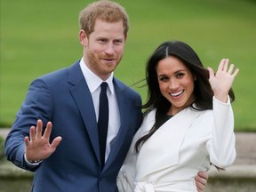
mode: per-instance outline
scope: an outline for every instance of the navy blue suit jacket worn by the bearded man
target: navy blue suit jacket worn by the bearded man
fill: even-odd
[[[35,172],[34,192],[114,192],[116,175],[124,162],[142,114],[138,92],[113,80],[120,110],[121,126],[104,169],[100,169],[97,120],[92,95],[84,80],[79,60],[41,76],[30,84],[12,130],[5,140],[5,155],[20,168]],[[56,151],[36,168],[24,162],[24,137],[42,119],[52,121],[51,141],[61,136]]]

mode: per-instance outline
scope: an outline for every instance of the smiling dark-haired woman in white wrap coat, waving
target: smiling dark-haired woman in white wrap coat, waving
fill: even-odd
[[[197,172],[234,162],[230,102],[238,71],[223,59],[214,75],[182,42],[156,49],[148,60],[144,121],[119,172],[119,191],[196,191]]]

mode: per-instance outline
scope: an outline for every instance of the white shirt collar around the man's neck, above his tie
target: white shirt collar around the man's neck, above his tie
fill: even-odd
[[[88,85],[88,88],[90,92],[94,92],[100,84],[103,82],[102,79],[95,75],[90,68],[86,66],[84,63],[84,57],[80,60],[80,68],[82,69],[85,81]],[[112,72],[111,75],[108,77],[108,79],[105,81],[108,83],[108,87],[111,93],[114,93],[114,85],[113,85],[113,77],[114,73]]]

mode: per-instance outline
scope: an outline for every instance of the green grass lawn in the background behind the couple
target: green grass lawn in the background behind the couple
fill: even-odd
[[[78,12],[92,1],[1,0],[0,126],[10,126],[37,76],[82,57]],[[240,68],[233,104],[236,131],[256,131],[256,2],[250,0],[118,0],[130,16],[124,59],[115,75],[126,84],[144,78],[156,46],[181,40],[205,67],[229,58]],[[146,89],[133,86],[146,100]]]

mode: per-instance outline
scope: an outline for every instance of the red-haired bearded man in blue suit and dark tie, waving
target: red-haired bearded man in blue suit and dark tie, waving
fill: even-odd
[[[117,191],[116,175],[142,120],[139,93],[113,76],[128,32],[124,8],[92,3],[79,20],[84,57],[30,84],[5,141],[8,160],[35,172],[34,192]],[[103,154],[97,125],[102,82],[109,107]]]

